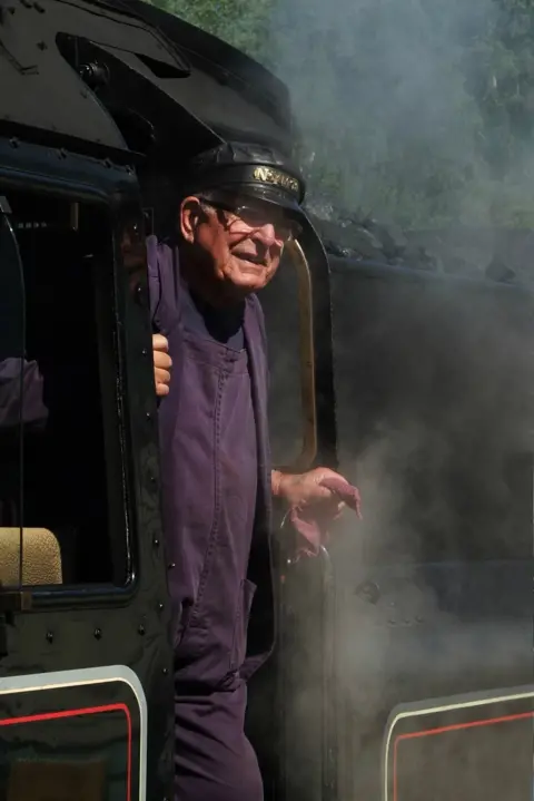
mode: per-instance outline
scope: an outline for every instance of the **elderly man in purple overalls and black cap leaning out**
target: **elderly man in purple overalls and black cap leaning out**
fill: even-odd
[[[172,360],[159,414],[176,621],[176,801],[263,799],[244,719],[247,680],[274,643],[270,497],[339,508],[322,486],[340,479],[332,470],[288,476],[269,459],[256,293],[299,233],[303,194],[298,174],[273,150],[225,144],[188,169],[176,247],[148,240],[154,322]]]

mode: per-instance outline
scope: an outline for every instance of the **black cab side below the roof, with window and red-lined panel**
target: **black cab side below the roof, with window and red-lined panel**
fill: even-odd
[[[152,690],[168,781],[171,653],[150,331],[116,247],[142,225],[136,182],[1,146],[0,782],[144,798]]]

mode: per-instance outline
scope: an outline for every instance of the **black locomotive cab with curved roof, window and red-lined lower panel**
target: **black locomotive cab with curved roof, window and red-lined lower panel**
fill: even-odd
[[[184,26],[184,55],[172,30],[130,6],[49,0],[0,17],[8,799],[171,798],[169,565],[145,237],[169,233],[174,179],[196,149],[229,131],[290,143],[286,92],[274,78],[257,68],[247,91],[239,53],[222,68],[224,46]],[[275,290],[268,319],[293,359],[293,417],[280,422],[291,442],[279,458],[301,468],[334,450],[333,404],[317,394],[323,385],[332,395],[330,338],[320,341],[315,326],[316,297],[328,310],[327,262],[312,226],[286,258],[294,305],[280,320]],[[275,419],[280,409],[278,397]],[[256,695],[270,706],[278,692],[270,676]],[[261,751],[275,735],[261,724],[258,732]],[[264,765],[269,759],[264,748]],[[275,776],[277,766],[265,770]]]

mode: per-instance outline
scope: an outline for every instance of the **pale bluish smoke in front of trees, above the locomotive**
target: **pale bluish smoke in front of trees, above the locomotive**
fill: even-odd
[[[484,95],[481,71],[493,79],[495,17],[492,0],[279,0],[270,60],[291,92],[312,205],[411,228],[493,218],[503,187],[472,88]]]

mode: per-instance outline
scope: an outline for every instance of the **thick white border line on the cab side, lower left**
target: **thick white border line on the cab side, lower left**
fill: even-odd
[[[0,695],[14,693],[34,693],[66,687],[85,687],[93,684],[122,682],[136,696],[139,706],[139,801],[147,799],[147,697],[139,677],[126,665],[106,665],[77,671],[57,671],[56,673],[30,673],[22,676],[0,678]],[[132,799],[134,801],[134,799]]]

